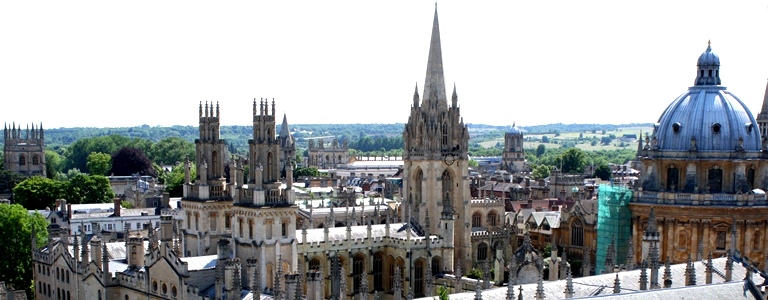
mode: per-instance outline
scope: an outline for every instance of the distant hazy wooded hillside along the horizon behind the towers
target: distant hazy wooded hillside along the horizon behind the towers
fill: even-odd
[[[291,132],[300,148],[306,148],[309,139],[333,137],[347,139],[352,145],[363,137],[386,137],[389,140],[402,140],[403,123],[394,124],[292,124]],[[593,132],[614,131],[624,127],[650,127],[652,124],[547,124],[521,127],[526,134],[566,133],[566,132]],[[280,125],[277,126],[280,132]],[[503,138],[504,132],[509,126],[492,126],[484,124],[467,124],[471,136],[471,143],[477,144],[484,141]],[[55,128],[45,130],[45,143],[48,148],[66,147],[67,145],[88,137],[122,135],[130,138],[147,139],[153,142],[166,137],[181,137],[188,141],[194,141],[198,137],[197,126],[171,126],[151,127],[148,125],[121,128]],[[248,139],[251,138],[251,126],[222,126],[221,136],[237,152],[245,152],[248,149]],[[4,142],[0,136],[0,142]],[[396,145],[397,143],[388,143]],[[387,149],[389,150],[389,149]]]

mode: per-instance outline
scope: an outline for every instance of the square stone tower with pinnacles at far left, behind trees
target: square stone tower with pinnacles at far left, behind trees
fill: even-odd
[[[19,173],[24,176],[43,176],[45,177],[45,141],[43,124],[32,129],[27,126],[26,130],[18,127],[16,123],[8,128],[5,125],[3,130],[5,136],[5,145],[3,147],[4,161],[6,170]]]

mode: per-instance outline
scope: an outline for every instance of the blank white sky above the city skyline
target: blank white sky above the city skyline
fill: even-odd
[[[0,122],[405,123],[423,93],[434,1],[2,1]],[[768,1],[438,1],[465,123],[653,123],[711,40],[757,115]],[[450,95],[450,90],[447,93]]]

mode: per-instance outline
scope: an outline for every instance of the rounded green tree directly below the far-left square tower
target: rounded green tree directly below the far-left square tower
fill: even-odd
[[[45,177],[30,177],[13,188],[13,200],[27,209],[51,208],[56,199],[64,198],[65,185],[65,182]]]

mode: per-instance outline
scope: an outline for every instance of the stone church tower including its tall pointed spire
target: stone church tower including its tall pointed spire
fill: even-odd
[[[459,113],[454,85],[451,103],[446,96],[437,8],[432,24],[423,98],[418,87],[403,131],[403,219],[427,225],[429,232],[451,232],[451,255],[457,262],[472,261],[469,229],[469,133]],[[429,213],[430,216],[426,214]],[[441,222],[426,222],[426,219]],[[452,261],[446,261],[446,269]],[[462,265],[466,270],[468,266]]]

